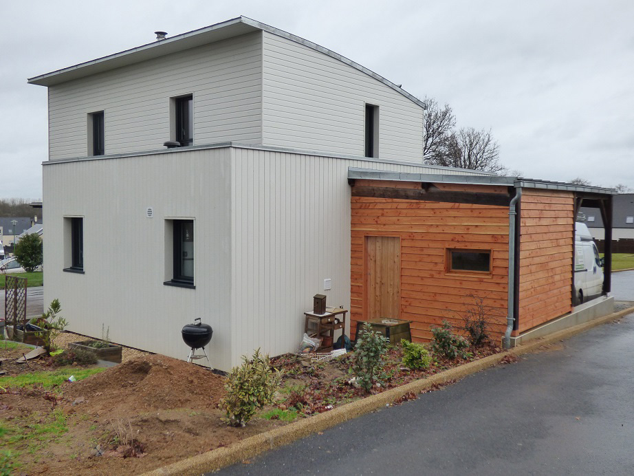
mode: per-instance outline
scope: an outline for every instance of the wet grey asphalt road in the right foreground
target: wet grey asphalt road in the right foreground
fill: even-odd
[[[630,314],[219,474],[632,475],[633,363]]]

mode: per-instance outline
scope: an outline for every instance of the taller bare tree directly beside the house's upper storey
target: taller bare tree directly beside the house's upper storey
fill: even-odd
[[[423,158],[434,161],[445,154],[448,137],[456,126],[456,117],[448,104],[441,108],[437,100],[428,97],[422,102],[425,105]]]

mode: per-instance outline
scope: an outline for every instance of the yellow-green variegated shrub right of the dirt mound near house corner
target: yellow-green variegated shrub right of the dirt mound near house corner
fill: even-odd
[[[220,401],[226,411],[225,422],[231,426],[245,426],[257,409],[273,401],[280,386],[280,371],[271,369],[269,356],[257,349],[251,359],[242,356],[240,367],[231,369],[225,383],[227,396]]]

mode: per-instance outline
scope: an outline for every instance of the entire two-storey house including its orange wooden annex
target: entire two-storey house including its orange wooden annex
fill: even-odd
[[[439,323],[426,308],[443,292],[454,316],[467,294],[490,290],[506,312],[509,274],[526,281],[511,301],[525,327],[560,316],[571,309],[573,204],[613,193],[425,165],[422,102],[245,17],[29,82],[48,87],[45,301],[61,301],[69,330],[100,336],[105,325],[114,342],[177,358],[183,325],[199,317],[223,370],[258,347],[294,351],[323,292],[352,321],[393,305],[415,340]],[[523,267],[519,248],[510,262],[520,219],[532,235]],[[542,242],[549,226],[554,244]],[[370,260],[398,281],[373,281],[389,294],[374,314]],[[555,305],[536,310],[545,299]]]

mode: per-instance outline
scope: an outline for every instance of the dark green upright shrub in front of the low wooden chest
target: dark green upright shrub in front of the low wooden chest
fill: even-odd
[[[387,351],[387,338],[373,332],[365,323],[361,328],[354,348],[351,373],[356,376],[362,389],[369,392],[373,385],[381,384],[383,356]]]

